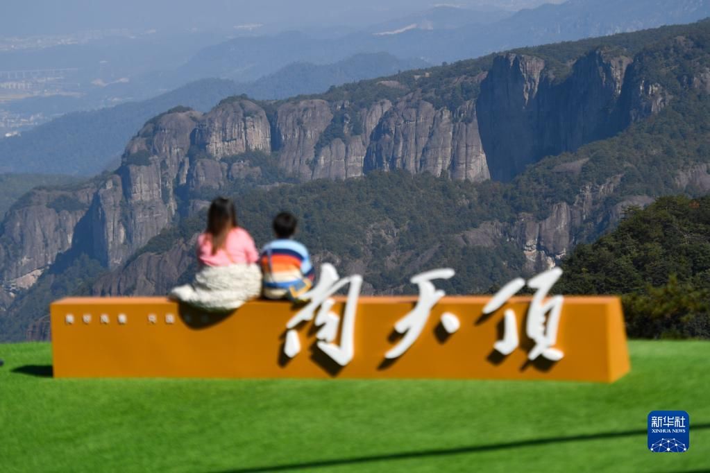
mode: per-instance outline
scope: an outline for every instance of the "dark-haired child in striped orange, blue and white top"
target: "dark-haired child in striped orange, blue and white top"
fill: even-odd
[[[295,216],[288,212],[273,219],[276,240],[263,247],[259,256],[262,294],[266,299],[299,301],[313,286],[315,272],[308,250],[293,240],[297,224]]]

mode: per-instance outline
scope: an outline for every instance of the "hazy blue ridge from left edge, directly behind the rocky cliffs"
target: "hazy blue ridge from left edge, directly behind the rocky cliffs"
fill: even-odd
[[[178,105],[207,111],[220,99],[235,94],[258,99],[315,94],[332,85],[424,65],[420,60],[377,53],[355,55],[332,65],[298,63],[246,84],[202,79],[153,99],[69,113],[20,136],[0,140],[0,172],[96,174],[111,165],[148,118]]]

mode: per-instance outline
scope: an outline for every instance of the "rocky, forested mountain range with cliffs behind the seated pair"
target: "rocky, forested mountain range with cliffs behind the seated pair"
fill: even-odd
[[[43,338],[64,294],[164,294],[195,269],[218,194],[260,244],[283,208],[317,264],[454,294],[556,265],[630,206],[710,189],[710,21],[477,60],[145,123],[121,165],[23,196],[0,230],[0,336]]]

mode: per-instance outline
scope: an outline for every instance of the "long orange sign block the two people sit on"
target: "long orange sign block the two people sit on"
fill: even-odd
[[[344,297],[336,297],[342,313]],[[564,298],[556,362],[528,360],[525,335],[530,297],[513,297],[484,316],[486,296],[447,296],[432,309],[415,343],[398,358],[384,355],[402,335],[397,321],[415,297],[361,297],[354,357],[341,367],[316,346],[313,322],[297,327],[300,352],[284,353],[286,323],[298,311],[287,302],[252,301],[217,315],[160,297],[69,298],[51,306],[55,377],[442,378],[567,379],[613,382],[630,369],[621,303],[616,297]],[[515,311],[519,346],[501,355],[503,312]],[[444,330],[450,313],[460,325]],[[339,343],[336,338],[334,343]]]

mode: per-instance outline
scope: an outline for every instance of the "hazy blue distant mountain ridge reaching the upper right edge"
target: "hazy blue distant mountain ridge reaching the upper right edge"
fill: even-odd
[[[482,14],[441,6],[337,39],[320,40],[305,33],[235,38],[204,48],[178,69],[175,77],[252,78],[272,72],[287,58],[334,62],[368,51],[420,57],[435,64],[450,62],[506,48],[690,23],[710,16],[710,0],[569,0],[476,24],[475,18]]]

